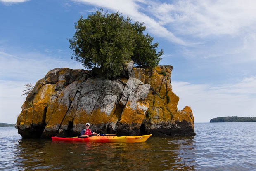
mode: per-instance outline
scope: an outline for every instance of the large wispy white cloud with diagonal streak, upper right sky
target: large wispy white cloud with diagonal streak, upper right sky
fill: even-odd
[[[185,46],[184,52],[190,54],[188,57],[235,58],[243,55],[245,61],[256,60],[254,0],[73,1],[119,11],[135,21],[144,22],[146,31],[154,37]]]

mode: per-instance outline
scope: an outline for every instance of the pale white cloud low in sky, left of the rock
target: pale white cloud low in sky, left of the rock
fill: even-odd
[[[59,51],[56,50],[56,55],[57,52]],[[25,101],[24,96],[21,96],[25,84],[35,84],[54,68],[83,68],[80,63],[72,61],[70,56],[58,58],[38,52],[14,54],[0,51],[0,61],[0,122],[4,123],[17,121],[21,105]]]

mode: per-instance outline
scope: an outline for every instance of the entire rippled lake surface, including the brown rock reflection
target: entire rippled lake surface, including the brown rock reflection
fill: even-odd
[[[144,143],[22,139],[0,127],[0,171],[255,171],[256,122],[195,124],[195,137]]]

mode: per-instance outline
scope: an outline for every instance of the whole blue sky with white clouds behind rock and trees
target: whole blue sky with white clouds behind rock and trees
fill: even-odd
[[[16,123],[28,83],[54,68],[83,69],[69,39],[80,16],[104,9],[145,23],[173,66],[178,110],[194,122],[256,117],[255,0],[0,0],[0,122]]]

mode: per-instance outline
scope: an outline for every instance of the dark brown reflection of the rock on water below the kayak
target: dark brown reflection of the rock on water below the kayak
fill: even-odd
[[[194,139],[151,137],[144,143],[66,143],[21,139],[20,170],[194,170]],[[15,169],[14,169],[15,170]]]

